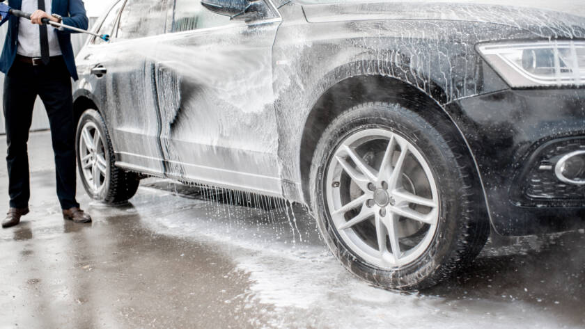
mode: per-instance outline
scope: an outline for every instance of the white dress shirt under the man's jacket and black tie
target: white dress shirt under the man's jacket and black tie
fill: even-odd
[[[51,15],[52,0],[45,0],[45,12]],[[34,13],[38,9],[38,0],[22,0],[22,11]],[[47,25],[49,38],[49,56],[61,55],[61,47],[53,26]],[[38,24],[31,24],[26,18],[20,18],[18,24],[17,54],[26,57],[40,57],[40,32]]]

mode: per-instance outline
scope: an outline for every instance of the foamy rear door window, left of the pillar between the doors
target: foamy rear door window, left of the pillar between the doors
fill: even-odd
[[[120,39],[143,38],[164,33],[166,0],[127,0],[120,15]]]

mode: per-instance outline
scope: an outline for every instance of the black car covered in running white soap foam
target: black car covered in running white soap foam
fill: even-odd
[[[77,56],[91,197],[169,177],[306,204],[421,289],[496,234],[584,226],[585,18],[434,1],[119,0]]]

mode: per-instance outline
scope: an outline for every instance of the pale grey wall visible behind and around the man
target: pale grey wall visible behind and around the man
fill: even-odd
[[[90,17],[89,26],[93,26],[93,23],[97,20],[97,17]],[[6,31],[8,31],[8,24],[0,26],[0,47],[4,45],[4,39],[6,38]],[[76,33],[72,35],[71,42],[73,44],[73,50],[75,54],[83,47],[88,36],[86,34]],[[0,73],[0,134],[6,134],[6,127],[4,126],[4,109],[3,109],[3,88],[4,86],[4,74]],[[49,119],[47,118],[47,112],[45,112],[45,106],[37,97],[35,102],[35,109],[33,111],[33,123],[31,125],[31,131],[49,129]]]

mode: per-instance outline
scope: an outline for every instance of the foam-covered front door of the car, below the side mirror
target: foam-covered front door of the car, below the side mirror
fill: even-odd
[[[258,3],[264,17],[230,19],[176,0],[172,33],[151,50],[169,176],[281,195],[271,64],[281,19]]]

